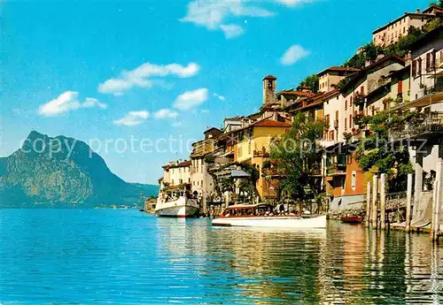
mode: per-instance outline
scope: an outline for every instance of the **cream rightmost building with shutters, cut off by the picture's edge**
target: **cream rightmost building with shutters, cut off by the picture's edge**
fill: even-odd
[[[418,119],[393,131],[391,137],[399,145],[408,142],[416,171],[415,204],[420,204],[426,197],[422,191],[432,189],[436,164],[443,161],[443,26],[412,43],[410,50],[410,101],[404,100],[390,111],[416,111]]]

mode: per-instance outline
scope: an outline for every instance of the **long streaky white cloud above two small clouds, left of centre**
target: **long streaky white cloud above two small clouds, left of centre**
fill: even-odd
[[[98,92],[123,95],[123,92],[130,88],[152,88],[154,81],[152,78],[176,76],[188,78],[198,73],[200,67],[196,63],[186,66],[178,64],[152,65],[144,63],[134,70],[123,71],[119,78],[105,80],[98,85]]]

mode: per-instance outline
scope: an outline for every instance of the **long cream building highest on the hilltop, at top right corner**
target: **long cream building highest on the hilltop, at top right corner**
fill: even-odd
[[[415,12],[405,12],[404,15],[372,32],[372,41],[377,46],[387,47],[398,42],[401,36],[408,35],[409,27],[423,29],[431,19],[439,18],[442,15],[443,9],[434,4],[424,11],[417,9]]]

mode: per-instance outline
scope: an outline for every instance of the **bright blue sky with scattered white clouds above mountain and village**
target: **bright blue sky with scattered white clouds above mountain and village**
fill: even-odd
[[[369,5],[370,3],[370,5]],[[128,182],[277,90],[341,65],[414,0],[2,1],[0,156],[32,130],[86,141]]]

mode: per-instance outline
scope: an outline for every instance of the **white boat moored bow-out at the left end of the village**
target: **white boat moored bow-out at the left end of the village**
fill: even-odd
[[[159,194],[155,205],[155,215],[159,217],[198,217],[199,207],[196,199],[185,194]]]

